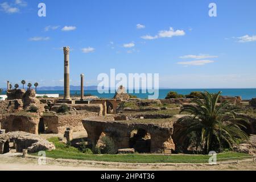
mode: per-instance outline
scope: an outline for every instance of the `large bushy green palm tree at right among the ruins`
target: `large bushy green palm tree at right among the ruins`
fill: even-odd
[[[201,98],[192,100],[194,105],[184,105],[180,113],[187,112],[190,115],[179,118],[177,131],[179,137],[187,139],[188,144],[201,147],[204,154],[210,150],[221,151],[222,147],[232,148],[238,140],[247,140],[248,135],[241,130],[246,128],[243,123],[245,118],[236,114],[238,109],[228,102],[218,104],[221,92],[210,94],[201,93]],[[189,139],[190,140],[189,140]]]

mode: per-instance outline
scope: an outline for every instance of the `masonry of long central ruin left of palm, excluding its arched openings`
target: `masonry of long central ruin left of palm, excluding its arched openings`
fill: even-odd
[[[172,119],[171,119],[172,120]],[[172,122],[166,123],[143,123],[143,122],[125,122],[125,121],[106,121],[106,118],[89,118],[82,121],[84,128],[88,133],[88,140],[96,144],[101,133],[105,133],[113,139],[115,149],[129,148],[131,131],[134,129],[143,129],[150,134],[152,153],[161,152],[164,148],[175,150],[175,144],[171,135],[173,132]]]

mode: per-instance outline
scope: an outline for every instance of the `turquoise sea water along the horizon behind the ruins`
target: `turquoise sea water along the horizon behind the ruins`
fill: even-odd
[[[167,93],[170,91],[175,91],[179,94],[189,94],[192,91],[204,91],[207,90],[210,93],[217,93],[218,91],[222,91],[222,96],[241,96],[243,100],[250,100],[251,98],[256,98],[256,89],[159,89],[159,99],[166,97]],[[38,90],[38,94],[60,94],[63,95],[63,90]],[[100,98],[112,98],[114,97],[114,93],[104,93],[100,94],[97,90],[85,90],[85,94],[92,94],[93,96],[98,96]],[[80,90],[71,90],[72,96],[79,96]],[[133,93],[133,95],[138,98],[147,98],[148,93]],[[151,94],[152,95],[152,94]]]

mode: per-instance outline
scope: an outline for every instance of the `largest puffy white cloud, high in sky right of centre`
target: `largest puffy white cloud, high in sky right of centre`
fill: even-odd
[[[173,36],[183,36],[185,35],[184,30],[174,30],[174,28],[170,27],[169,30],[161,30],[158,32],[158,35],[151,36],[151,35],[144,35],[141,36],[142,39],[152,40],[158,38],[172,38]]]

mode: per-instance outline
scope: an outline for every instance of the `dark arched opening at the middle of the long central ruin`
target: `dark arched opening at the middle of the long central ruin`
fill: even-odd
[[[150,133],[143,129],[135,129],[131,131],[130,148],[134,148],[139,153],[149,153],[151,145]]]

